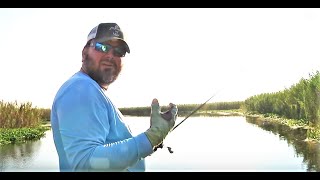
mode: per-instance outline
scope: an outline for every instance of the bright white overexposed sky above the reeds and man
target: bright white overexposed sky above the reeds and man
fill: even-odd
[[[244,101],[320,69],[319,8],[2,8],[0,100],[51,108],[102,22],[131,50],[107,91],[118,107]]]

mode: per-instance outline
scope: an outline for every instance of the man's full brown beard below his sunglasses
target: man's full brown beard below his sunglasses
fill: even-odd
[[[101,60],[100,63],[102,61],[106,60]],[[115,68],[102,69],[101,65],[95,64],[95,61],[93,61],[88,55],[84,59],[83,64],[88,75],[101,86],[106,86],[113,83],[121,72],[121,66],[117,66],[115,63],[113,63]]]

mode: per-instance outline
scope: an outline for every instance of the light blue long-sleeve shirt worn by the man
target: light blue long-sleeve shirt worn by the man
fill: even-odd
[[[152,145],[133,136],[103,89],[79,71],[58,90],[51,108],[60,171],[145,171]]]

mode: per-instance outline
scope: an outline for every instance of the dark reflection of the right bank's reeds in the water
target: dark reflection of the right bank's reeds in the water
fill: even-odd
[[[307,171],[320,171],[320,144],[317,142],[305,141],[307,138],[307,129],[291,129],[286,125],[270,123],[263,118],[258,117],[246,117],[246,121],[278,135],[281,140],[286,140],[288,145],[294,147],[296,156],[303,157],[303,163],[307,165]]]

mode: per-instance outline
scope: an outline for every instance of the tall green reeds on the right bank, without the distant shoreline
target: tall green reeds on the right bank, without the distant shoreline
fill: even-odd
[[[308,139],[320,140],[320,73],[309,74],[290,88],[249,97],[241,106],[246,115],[263,114],[290,127],[308,129]]]

